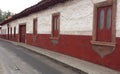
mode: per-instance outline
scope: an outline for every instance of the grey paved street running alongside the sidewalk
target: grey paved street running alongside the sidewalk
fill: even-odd
[[[4,74],[79,74],[28,49],[0,40]]]

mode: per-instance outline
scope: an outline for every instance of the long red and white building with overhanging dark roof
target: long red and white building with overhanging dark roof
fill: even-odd
[[[43,0],[1,23],[0,37],[120,71],[120,0]]]

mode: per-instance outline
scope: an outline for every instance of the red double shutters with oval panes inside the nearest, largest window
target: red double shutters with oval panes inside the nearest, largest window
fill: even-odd
[[[98,8],[97,41],[112,40],[112,6]]]

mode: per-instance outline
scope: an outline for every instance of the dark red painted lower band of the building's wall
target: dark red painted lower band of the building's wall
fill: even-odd
[[[51,35],[49,34],[39,34],[37,36],[27,34],[26,43],[120,71],[120,38],[116,38],[117,46],[115,51],[101,58],[92,50],[92,45],[90,43],[92,40],[91,36],[61,35],[58,44],[53,44],[50,37]],[[16,35],[16,39],[13,41],[18,40],[19,35]]]

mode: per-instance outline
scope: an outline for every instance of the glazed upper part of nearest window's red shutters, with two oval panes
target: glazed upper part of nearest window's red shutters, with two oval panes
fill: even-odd
[[[111,6],[102,7],[102,8],[98,8],[98,9],[101,9],[101,10],[98,10],[98,13],[99,13],[98,17],[100,17],[99,18],[99,28],[103,29],[105,27],[107,30],[110,30],[111,24],[112,24],[112,20],[111,20],[112,19],[112,8],[111,8]]]

